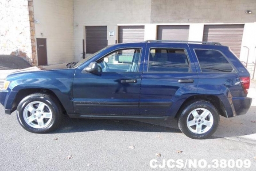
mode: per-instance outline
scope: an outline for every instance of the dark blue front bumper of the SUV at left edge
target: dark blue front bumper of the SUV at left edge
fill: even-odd
[[[4,106],[6,114],[11,114],[14,111],[12,104],[17,93],[18,91],[0,90],[0,103]]]

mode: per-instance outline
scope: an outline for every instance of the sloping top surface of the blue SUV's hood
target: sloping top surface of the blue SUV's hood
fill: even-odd
[[[25,68],[25,69],[19,69],[18,71],[12,72],[12,73],[41,71],[41,70],[52,70],[52,69],[65,69],[65,68],[67,69],[66,65],[67,65],[67,63],[34,66],[34,67]]]

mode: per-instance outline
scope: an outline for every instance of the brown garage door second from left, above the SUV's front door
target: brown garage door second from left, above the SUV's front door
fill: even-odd
[[[144,41],[144,26],[119,26],[118,43]]]

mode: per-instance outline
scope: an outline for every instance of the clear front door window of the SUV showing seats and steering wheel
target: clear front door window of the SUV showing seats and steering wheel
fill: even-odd
[[[120,49],[101,58],[100,72],[138,72],[141,49]]]

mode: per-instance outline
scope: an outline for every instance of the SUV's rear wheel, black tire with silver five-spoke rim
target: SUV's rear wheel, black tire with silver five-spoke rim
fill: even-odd
[[[178,116],[178,127],[187,137],[206,139],[215,133],[219,121],[216,107],[205,100],[198,100],[183,108]]]

